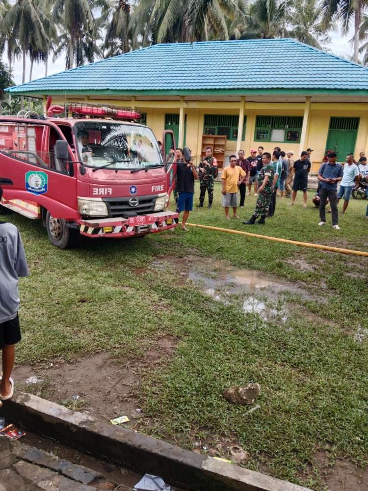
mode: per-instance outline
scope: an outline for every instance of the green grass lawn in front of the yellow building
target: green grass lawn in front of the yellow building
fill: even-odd
[[[198,198],[198,189],[196,192]],[[266,225],[242,225],[254,209],[247,196],[241,220],[225,220],[220,187],[212,210],[195,209],[189,222],[234,228],[292,240],[367,250],[367,201],[351,200],[340,218],[341,230],[318,227],[318,211],[278,201]],[[173,209],[173,206],[171,206]],[[6,215],[24,240],[30,277],[21,279],[23,341],[18,363],[44,364],[111,351],[139,358],[158,337],[175,336],[175,355],[147,372],[139,390],[145,416],[140,430],[193,448],[201,441],[240,443],[251,456],[282,479],[322,490],[313,463],[317,449],[331,459],[368,464],[368,258],[320,251],[189,227],[144,240],[81,239],[75,250],[61,251],[48,241],[41,224]],[[283,295],[286,323],[244,315],[244,299],[215,301],[183,280],[171,266],[152,261],[203,258],[204,276],[216,264],[273,273],[305,291]],[[213,261],[213,268],[208,264]],[[301,271],[293,260],[312,266]],[[260,409],[225,401],[223,388],[258,382]],[[224,448],[224,457],[226,449]]]

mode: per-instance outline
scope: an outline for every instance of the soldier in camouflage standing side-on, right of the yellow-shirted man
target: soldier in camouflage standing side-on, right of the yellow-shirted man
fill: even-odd
[[[263,167],[258,178],[258,198],[256,209],[248,221],[243,221],[244,225],[254,225],[258,217],[260,217],[260,219],[257,223],[264,225],[264,218],[266,218],[266,215],[268,214],[271,195],[275,189],[273,185],[275,170],[270,160],[271,154],[265,152],[262,155]]]

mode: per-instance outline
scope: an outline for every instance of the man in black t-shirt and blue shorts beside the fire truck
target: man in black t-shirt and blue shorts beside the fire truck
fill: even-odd
[[[184,211],[181,230],[188,232],[185,223],[189,217],[189,212],[193,210],[194,179],[198,179],[198,174],[193,165],[193,161],[177,164],[176,179],[176,189],[179,192],[176,212],[181,213]]]

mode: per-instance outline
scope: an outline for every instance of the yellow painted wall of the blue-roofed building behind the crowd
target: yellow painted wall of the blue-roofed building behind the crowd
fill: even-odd
[[[87,98],[86,98],[87,99]],[[70,98],[72,100],[72,98]],[[79,99],[80,100],[80,99]],[[53,104],[64,104],[64,100],[53,100]],[[87,102],[87,100],[86,100]],[[88,98],[88,102],[113,104],[116,106],[131,106],[129,101],[100,101]],[[174,101],[134,101],[134,107],[146,112],[147,125],[152,128],[158,140],[162,140],[162,132],[165,125],[165,113],[179,114],[179,102]],[[294,151],[294,157],[299,155],[299,143],[278,143],[278,142],[259,142],[254,141],[255,123],[257,115],[280,115],[280,116],[303,116],[305,104],[303,103],[248,103],[245,102],[244,115],[247,116],[245,140],[241,142],[241,147],[246,155],[249,155],[251,148],[264,147],[264,151],[272,153],[275,146],[280,146],[282,150]],[[313,148],[312,154],[313,171],[318,170],[322,161],[327,144],[329,121],[331,116],[337,117],[360,117],[358,136],[355,146],[355,157],[359,156],[362,150],[368,153],[368,108],[363,104],[356,103],[311,103],[309,113],[309,124],[307,128],[305,149]],[[184,113],[186,114],[186,140],[185,144],[196,156],[195,162],[198,163],[201,153],[202,134],[205,114],[239,114],[238,102],[184,102]],[[228,141],[226,156],[236,152],[237,141]],[[225,159],[227,161],[227,159]]]

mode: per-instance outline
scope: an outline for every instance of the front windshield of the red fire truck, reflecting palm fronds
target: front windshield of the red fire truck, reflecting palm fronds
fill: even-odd
[[[75,125],[79,160],[94,170],[140,170],[163,166],[152,131],[116,121],[84,120]]]

